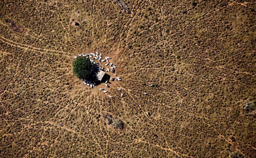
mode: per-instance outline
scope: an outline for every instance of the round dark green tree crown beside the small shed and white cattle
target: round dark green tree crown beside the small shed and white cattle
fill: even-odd
[[[84,80],[92,80],[94,65],[88,58],[77,58],[73,62],[73,73],[80,79]]]

